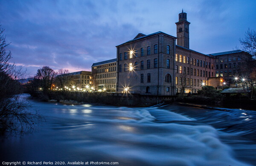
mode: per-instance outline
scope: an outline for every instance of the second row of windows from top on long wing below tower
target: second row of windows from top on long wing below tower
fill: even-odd
[[[189,75],[189,72],[190,72],[190,75],[194,74],[194,76],[199,76],[199,69],[190,68],[190,71],[189,71],[189,67],[182,67],[182,66],[176,65],[175,72],[180,74],[187,74],[187,75]],[[210,72],[200,70],[200,77],[205,77],[205,76],[210,77]],[[213,77],[213,72],[212,72],[212,77]]]

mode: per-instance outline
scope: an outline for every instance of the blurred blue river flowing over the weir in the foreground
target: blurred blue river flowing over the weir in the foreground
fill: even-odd
[[[29,100],[45,122],[1,137],[0,160],[119,166],[256,165],[256,112],[179,105],[67,106]],[[54,164],[54,163],[53,163]]]

